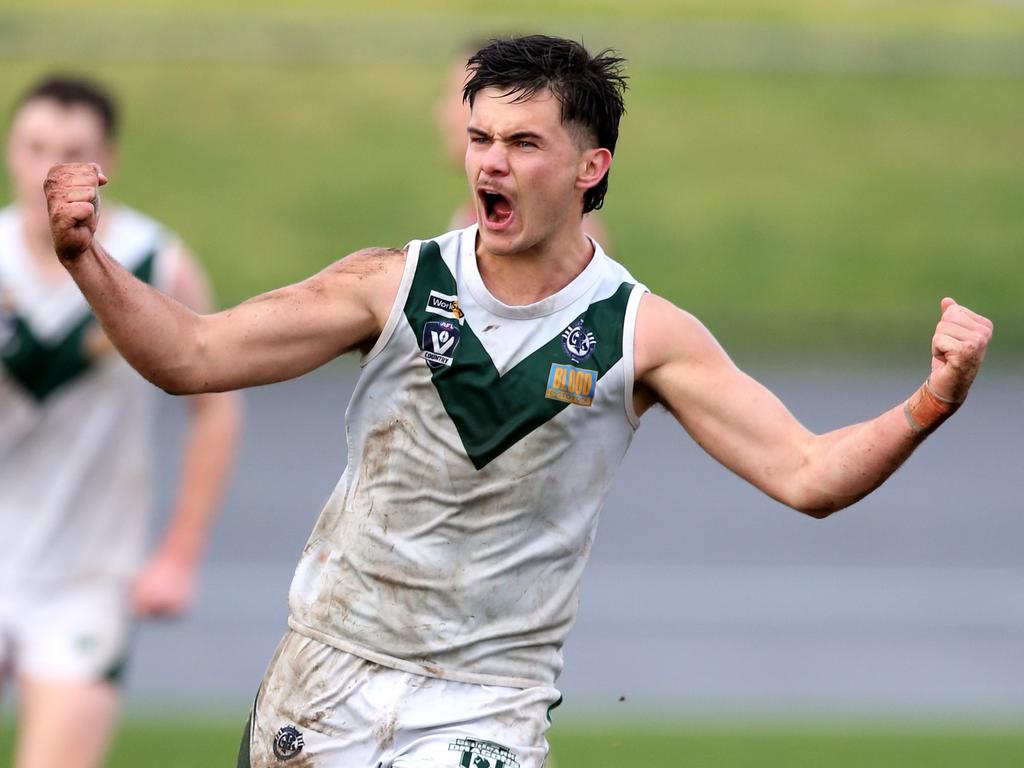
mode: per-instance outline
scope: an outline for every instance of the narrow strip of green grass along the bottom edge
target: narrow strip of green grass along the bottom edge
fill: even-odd
[[[241,726],[125,726],[108,768],[234,765]],[[559,768],[1018,768],[1024,730],[778,725],[566,725],[550,732]],[[0,755],[11,729],[0,728]],[[2,758],[0,758],[2,759]]]

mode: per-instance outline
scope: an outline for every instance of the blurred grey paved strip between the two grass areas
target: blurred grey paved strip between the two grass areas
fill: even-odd
[[[899,371],[753,373],[818,431],[920,384]],[[889,483],[825,521],[762,497],[664,413],[645,416],[565,648],[567,714],[1024,714],[1022,381],[986,372]],[[344,467],[353,383],[353,369],[335,368],[247,393],[245,449],[199,604],[140,629],[130,707],[248,707],[285,630],[295,561]]]

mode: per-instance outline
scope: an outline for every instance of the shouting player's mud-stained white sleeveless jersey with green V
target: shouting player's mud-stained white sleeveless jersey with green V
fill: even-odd
[[[645,289],[600,247],[508,306],[476,225],[414,241],[346,414],[348,465],[292,583],[291,627],[379,664],[551,684],[598,512],[633,437]]]

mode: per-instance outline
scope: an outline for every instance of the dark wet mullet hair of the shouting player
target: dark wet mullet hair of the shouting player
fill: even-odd
[[[580,43],[547,35],[494,39],[469,57],[471,77],[463,98],[473,105],[476,94],[498,88],[516,100],[550,90],[561,104],[563,125],[582,129],[590,141],[612,155],[618,120],[626,112],[626,59],[610,49],[591,55]],[[608,174],[584,194],[583,212],[604,204]]]

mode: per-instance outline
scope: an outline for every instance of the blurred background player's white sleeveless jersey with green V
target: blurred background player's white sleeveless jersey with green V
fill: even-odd
[[[110,254],[159,278],[168,233],[130,209],[104,217]],[[155,391],[114,351],[74,282],[37,271],[16,209],[0,211],[0,590],[137,567]]]

